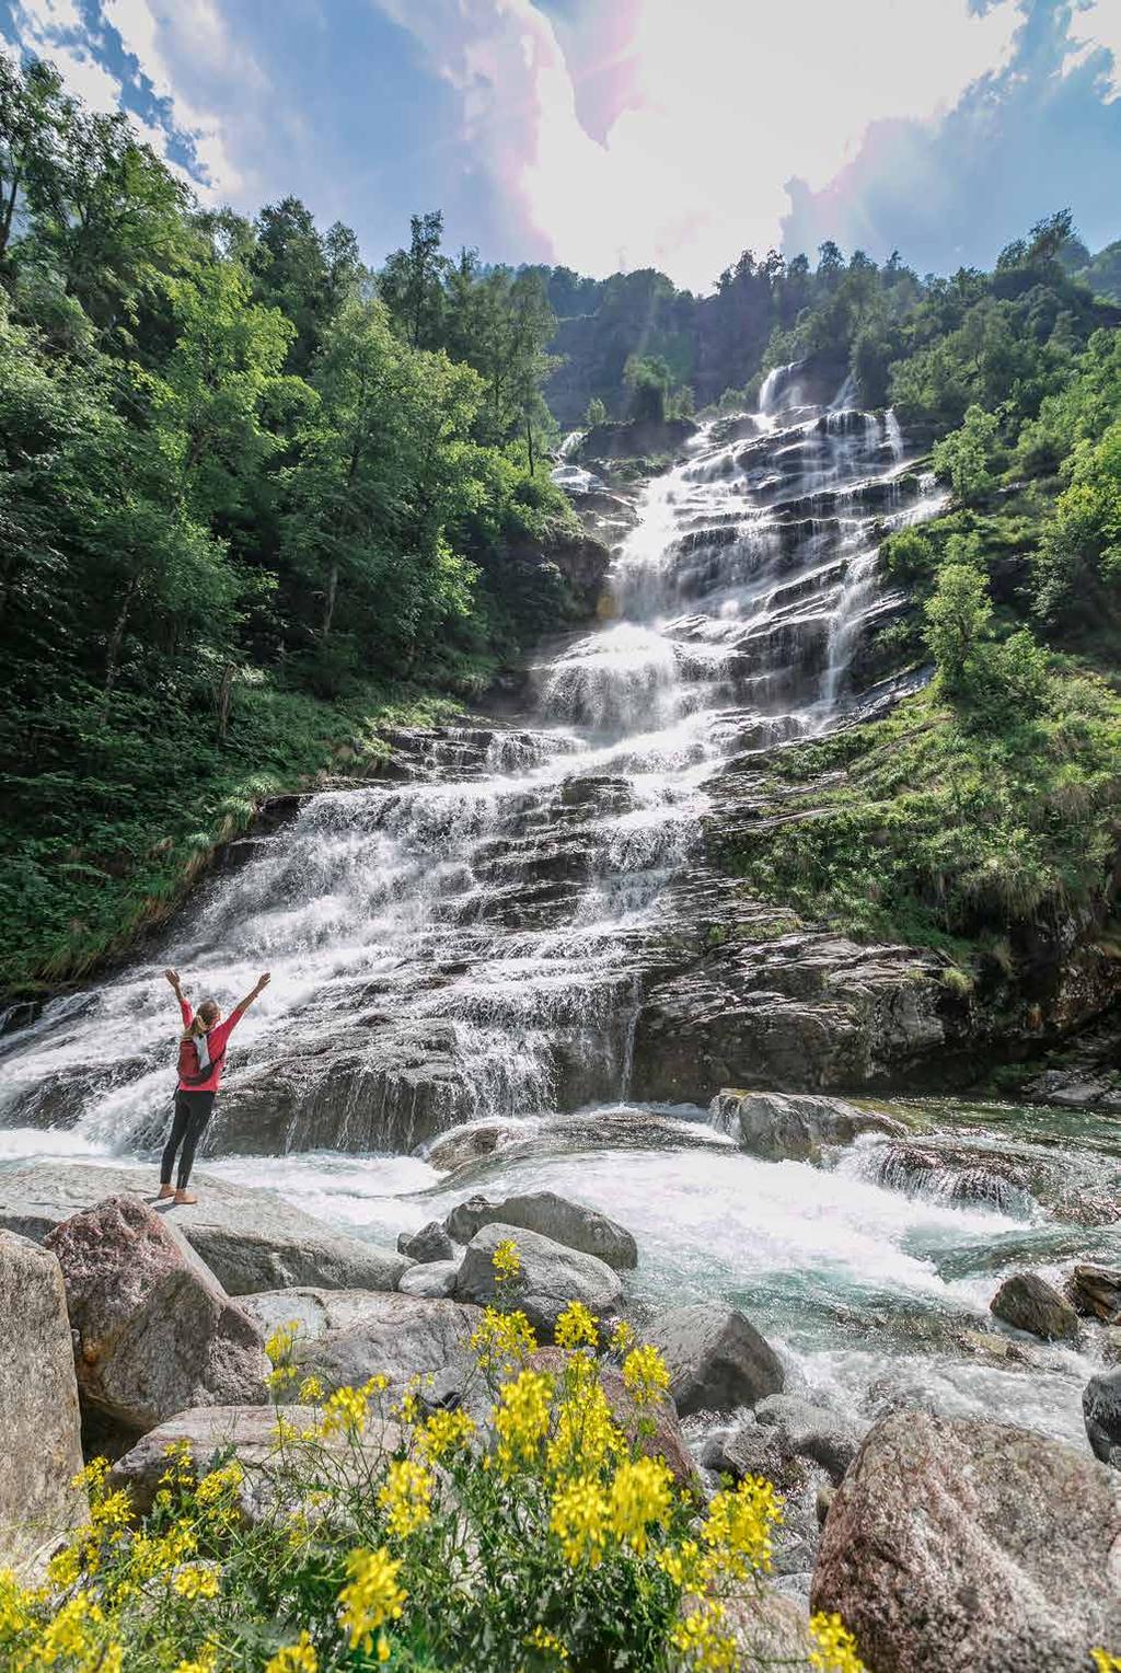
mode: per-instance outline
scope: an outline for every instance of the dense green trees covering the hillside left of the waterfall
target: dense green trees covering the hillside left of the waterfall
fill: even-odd
[[[554,320],[438,241],[378,279],[296,199],[204,212],[0,55],[5,984],[127,940],[258,796],[564,621],[532,562],[574,527]]]

